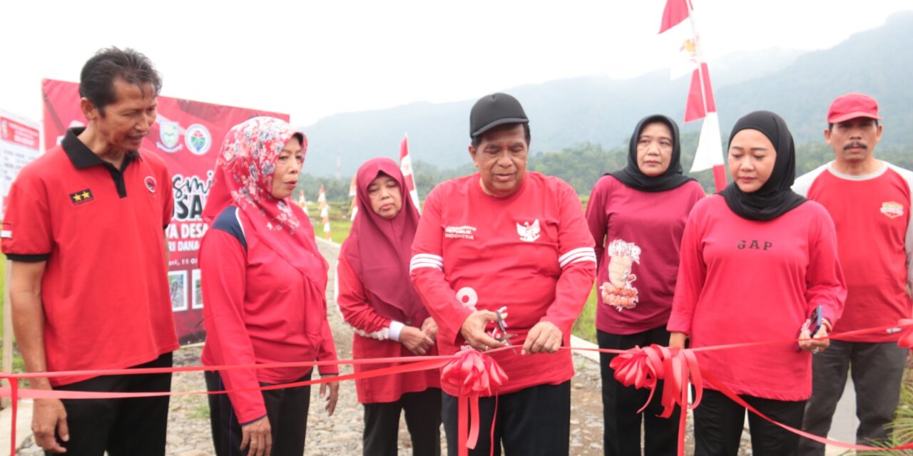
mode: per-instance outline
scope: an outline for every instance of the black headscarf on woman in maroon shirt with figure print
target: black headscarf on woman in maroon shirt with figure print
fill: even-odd
[[[640,140],[640,134],[644,131],[646,125],[653,122],[665,123],[669,130],[672,131],[672,158],[665,172],[658,176],[650,177],[640,171],[640,167],[637,166],[637,141]],[[661,114],[655,114],[637,122],[634,135],[631,136],[631,144],[628,146],[627,166],[611,174],[624,185],[641,192],[666,192],[666,190],[677,188],[687,181],[694,181],[694,179],[682,174],[681,142],[678,140],[678,126],[675,120]]]

